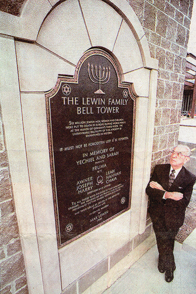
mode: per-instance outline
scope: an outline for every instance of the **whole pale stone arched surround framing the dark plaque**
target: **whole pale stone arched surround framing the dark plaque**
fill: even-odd
[[[28,286],[32,294],[59,294],[129,239],[143,233],[146,225],[145,187],[151,163],[157,60],[150,57],[144,30],[126,0],[66,0],[57,4],[52,0],[29,0],[19,18],[7,14],[5,17],[0,13],[3,24],[0,32],[17,38],[15,42],[12,37],[0,39],[4,55],[8,48],[11,49],[15,71],[10,71],[10,74],[15,84],[19,76],[17,89],[12,89],[17,95],[12,93],[10,96],[12,112],[16,113],[18,123],[10,119],[10,105],[6,100],[10,93],[6,83],[1,89],[2,113],[17,217],[21,234],[25,236],[23,248]],[[95,22],[98,9],[102,10],[102,17]],[[19,38],[31,42],[22,42]],[[73,75],[77,61],[92,46],[105,47],[114,53],[122,66],[123,79],[133,83],[138,96],[131,210],[57,250],[44,91],[55,85],[58,73]],[[18,131],[23,144],[16,136]],[[38,140],[40,136],[41,143]],[[13,159],[16,146],[20,146],[19,161]],[[20,162],[27,192],[17,188]],[[28,219],[21,199],[26,199]],[[31,244],[28,244],[25,228],[34,238]],[[116,232],[119,238],[116,238]],[[106,236],[107,245],[104,242]],[[29,246],[32,252],[29,252]],[[85,262],[80,260],[78,264],[78,255]]]

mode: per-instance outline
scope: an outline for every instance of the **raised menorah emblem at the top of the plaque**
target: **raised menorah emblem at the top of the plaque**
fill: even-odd
[[[90,65],[88,63],[88,74],[89,78],[93,83],[99,84],[99,89],[94,92],[95,94],[105,94],[101,90],[101,85],[106,84],[110,79],[110,67],[103,67],[102,73],[101,73],[101,66],[97,67],[97,64],[95,65],[95,68],[93,67],[93,64]]]

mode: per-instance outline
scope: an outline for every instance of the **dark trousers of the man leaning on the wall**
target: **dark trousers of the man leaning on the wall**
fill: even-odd
[[[152,225],[157,241],[159,263],[164,266],[165,270],[173,270],[175,268],[173,248],[178,230],[167,229],[164,218]]]

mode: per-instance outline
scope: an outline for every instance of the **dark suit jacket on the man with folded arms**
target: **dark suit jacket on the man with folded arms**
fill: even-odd
[[[149,183],[146,193],[149,196],[149,213],[153,222],[165,221],[166,227],[173,231],[178,230],[184,222],[185,210],[191,199],[196,176],[182,167],[176,176],[171,188],[168,188],[170,164],[156,165],[149,182],[160,184],[165,191],[180,192],[183,194],[181,200],[163,199],[164,191],[152,189]]]

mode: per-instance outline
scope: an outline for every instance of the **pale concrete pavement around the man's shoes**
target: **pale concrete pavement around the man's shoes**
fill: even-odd
[[[196,294],[196,256],[175,242],[176,270],[171,283],[157,269],[158,253],[154,245],[103,294]]]

